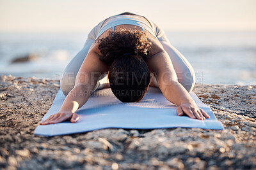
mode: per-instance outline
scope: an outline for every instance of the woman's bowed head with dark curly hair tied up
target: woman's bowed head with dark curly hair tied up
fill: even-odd
[[[150,50],[144,32],[123,29],[99,39],[100,60],[109,66],[109,83],[122,102],[138,102],[147,92],[150,72],[145,60]]]

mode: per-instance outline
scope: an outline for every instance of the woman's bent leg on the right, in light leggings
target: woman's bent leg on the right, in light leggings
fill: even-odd
[[[161,42],[164,50],[166,50],[170,56],[170,59],[172,60],[179,83],[182,84],[183,87],[188,90],[188,92],[191,92],[195,86],[195,71],[193,67],[189,61],[174,46],[171,45],[170,41],[164,34],[163,29],[154,24],[154,22],[152,22],[152,24],[154,25],[153,29],[156,31],[157,39]],[[153,78],[152,81],[154,81],[153,84],[157,83],[156,78]]]

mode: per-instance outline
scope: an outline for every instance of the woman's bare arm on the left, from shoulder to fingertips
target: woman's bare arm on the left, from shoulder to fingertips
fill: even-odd
[[[75,113],[91,96],[99,76],[108,71],[108,66],[99,60],[99,53],[90,50],[76,76],[74,88],[68,93],[60,111],[51,115],[40,125],[57,124],[65,120],[75,123],[79,117]]]

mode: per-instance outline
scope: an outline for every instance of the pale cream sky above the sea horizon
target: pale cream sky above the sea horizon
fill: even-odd
[[[255,0],[0,0],[0,32],[88,32],[124,11],[165,31],[256,31]]]

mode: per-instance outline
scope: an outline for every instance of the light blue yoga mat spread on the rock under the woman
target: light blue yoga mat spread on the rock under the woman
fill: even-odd
[[[194,92],[191,92],[190,95],[197,106],[206,111],[210,118],[197,120],[187,116],[179,117],[176,111],[177,106],[167,101],[158,88],[149,87],[143,99],[138,103],[122,103],[108,88],[94,92],[87,103],[76,111],[80,116],[78,122],[66,121],[59,124],[38,125],[34,133],[43,136],[57,136],[105,128],[199,127],[223,130],[223,125],[216,119],[211,108],[202,103]],[[59,90],[42,121],[58,112],[64,99],[64,94]]]

